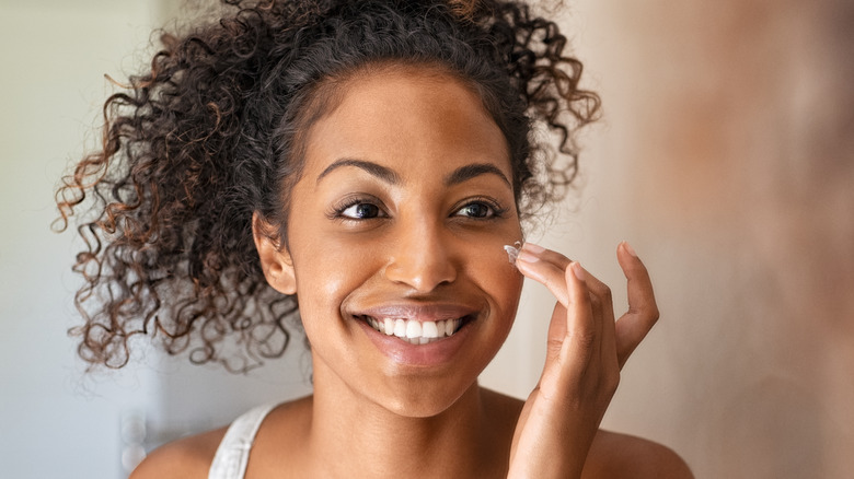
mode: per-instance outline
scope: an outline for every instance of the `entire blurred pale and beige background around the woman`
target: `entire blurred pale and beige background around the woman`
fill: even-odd
[[[604,118],[544,245],[612,284],[628,240],[659,325],[626,365],[604,425],[677,449],[697,477],[846,478],[854,470],[854,5],[841,0],[582,0],[564,28]],[[53,190],[93,147],[103,73],[145,62],[166,0],[0,0],[0,470],[118,478],[148,443],[304,394],[304,354],[250,377],[149,352],[84,376],[72,234]],[[524,397],[552,300],[526,291],[483,383]],[[298,342],[298,341],[297,341]]]

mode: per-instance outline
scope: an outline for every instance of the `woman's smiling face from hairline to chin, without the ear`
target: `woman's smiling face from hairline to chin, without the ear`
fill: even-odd
[[[432,416],[475,384],[522,285],[503,249],[521,237],[511,184],[505,138],[462,82],[409,68],[344,86],[309,132],[281,252],[315,388]]]

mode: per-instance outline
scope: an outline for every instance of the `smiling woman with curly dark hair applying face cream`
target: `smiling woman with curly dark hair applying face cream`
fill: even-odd
[[[227,3],[107,101],[103,151],[60,191],[64,219],[86,198],[97,213],[73,332],[93,364],[122,366],[149,334],[241,369],[279,355],[299,313],[314,394],[168,444],[134,477],[690,477],[598,429],[658,316],[631,246],[616,326],[578,262],[532,244],[508,261],[598,108],[556,25],[505,1]],[[568,163],[532,143],[535,121]],[[557,299],[524,402],[477,385],[523,277]]]

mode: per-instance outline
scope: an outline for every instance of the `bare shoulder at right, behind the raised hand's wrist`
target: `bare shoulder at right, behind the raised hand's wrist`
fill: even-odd
[[[584,478],[693,479],[688,464],[667,446],[608,431],[599,431],[587,456]]]

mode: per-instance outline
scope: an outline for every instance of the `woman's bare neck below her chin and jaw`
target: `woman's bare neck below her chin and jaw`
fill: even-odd
[[[314,392],[309,445],[318,477],[487,477],[504,470],[507,452],[501,454],[476,383],[429,417],[392,411],[318,362]]]

